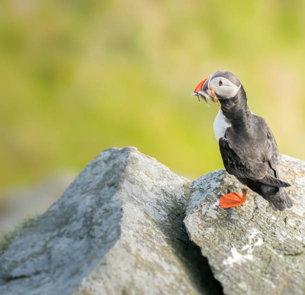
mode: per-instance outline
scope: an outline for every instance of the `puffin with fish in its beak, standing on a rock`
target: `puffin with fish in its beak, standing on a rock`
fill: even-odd
[[[222,208],[246,202],[250,189],[267,200],[274,210],[291,208],[285,191],[290,184],[279,179],[280,159],[275,138],[266,121],[253,114],[246,92],[235,74],[216,71],[195,88],[192,95],[220,103],[213,129],[226,171],[242,187],[242,195],[232,192],[220,197]],[[217,98],[217,99],[216,99]]]

